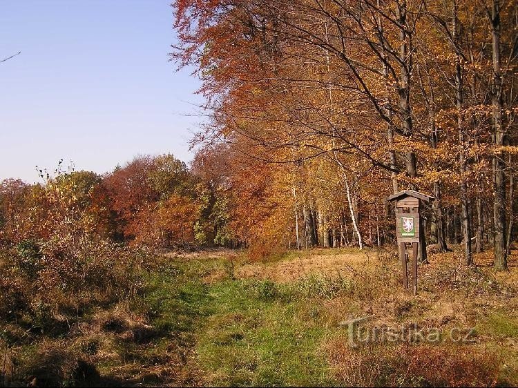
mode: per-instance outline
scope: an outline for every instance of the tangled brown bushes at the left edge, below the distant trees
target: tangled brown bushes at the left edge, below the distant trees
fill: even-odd
[[[88,240],[75,251],[64,242],[26,240],[16,252],[0,262],[0,320],[25,317],[24,324],[44,330],[56,323],[56,316],[63,320],[63,314],[77,316],[93,306],[133,298],[152,261],[146,251]]]

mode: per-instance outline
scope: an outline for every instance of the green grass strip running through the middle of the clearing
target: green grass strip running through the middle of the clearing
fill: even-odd
[[[140,309],[157,329],[193,347],[207,385],[330,385],[336,383],[319,344],[326,335],[319,300],[296,300],[303,287],[269,281],[202,278],[223,260],[166,264],[151,275]],[[172,275],[166,275],[171,273]],[[314,282],[316,288],[318,283]],[[142,309],[144,308],[144,309]],[[307,318],[311,317],[310,320]]]

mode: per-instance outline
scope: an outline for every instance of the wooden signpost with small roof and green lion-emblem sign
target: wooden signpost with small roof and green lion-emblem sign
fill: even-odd
[[[417,253],[419,249],[421,201],[430,202],[435,198],[404,190],[387,197],[387,201],[396,201],[396,235],[399,245],[399,257],[403,270],[403,286],[408,289],[406,244],[412,246],[412,291],[417,293]],[[422,232],[424,233],[424,231]]]

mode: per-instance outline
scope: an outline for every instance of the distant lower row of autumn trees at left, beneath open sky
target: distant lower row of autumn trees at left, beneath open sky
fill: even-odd
[[[98,175],[39,170],[43,183],[0,182],[0,243],[84,241],[153,249],[231,244],[225,194],[173,155],[135,157]]]

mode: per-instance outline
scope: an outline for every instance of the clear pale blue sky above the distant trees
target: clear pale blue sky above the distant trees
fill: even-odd
[[[171,0],[0,0],[0,180],[59,159],[111,171],[135,155],[189,162],[203,122],[192,68],[169,61]]]

